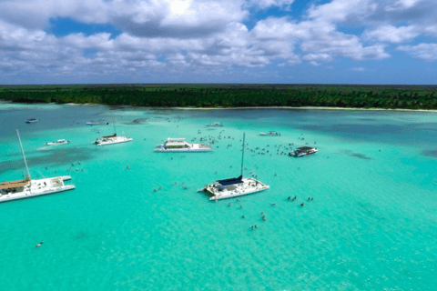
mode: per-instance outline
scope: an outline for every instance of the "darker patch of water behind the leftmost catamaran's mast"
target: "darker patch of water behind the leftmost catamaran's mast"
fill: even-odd
[[[46,151],[43,156],[27,156],[27,165],[30,172],[34,172],[33,169],[38,166],[51,167],[51,166],[68,166],[77,162],[89,161],[95,158],[93,153],[96,150],[82,147],[82,148],[68,148],[68,149],[56,149],[56,151]],[[80,167],[80,166],[77,166]],[[25,168],[25,162],[23,158],[15,158],[0,165],[0,174],[9,170],[15,170],[19,168]]]

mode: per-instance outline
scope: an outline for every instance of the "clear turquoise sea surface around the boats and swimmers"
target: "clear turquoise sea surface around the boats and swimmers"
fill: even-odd
[[[76,185],[0,204],[0,290],[437,288],[437,114],[110,109],[0,105],[0,179],[25,172],[17,128],[34,178]],[[114,129],[85,122],[113,114],[134,141],[92,145]],[[268,130],[282,135],[258,135]],[[214,153],[153,152],[167,137],[220,131]],[[239,176],[243,133],[245,175],[270,189],[210,202],[197,189]],[[71,144],[44,146],[60,138]],[[317,155],[277,155],[314,142]]]

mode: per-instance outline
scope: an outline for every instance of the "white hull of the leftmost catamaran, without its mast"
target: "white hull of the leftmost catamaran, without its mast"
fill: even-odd
[[[24,187],[23,191],[0,195],[0,203],[73,190],[76,186],[64,185],[64,181],[70,179],[71,176],[56,176],[53,178],[32,180],[28,186]]]

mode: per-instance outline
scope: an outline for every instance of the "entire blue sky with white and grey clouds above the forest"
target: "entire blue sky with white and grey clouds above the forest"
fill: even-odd
[[[437,85],[435,0],[0,2],[0,85]]]

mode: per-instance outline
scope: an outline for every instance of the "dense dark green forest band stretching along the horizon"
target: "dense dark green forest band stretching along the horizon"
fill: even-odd
[[[0,100],[153,107],[437,109],[437,85],[3,85]]]

